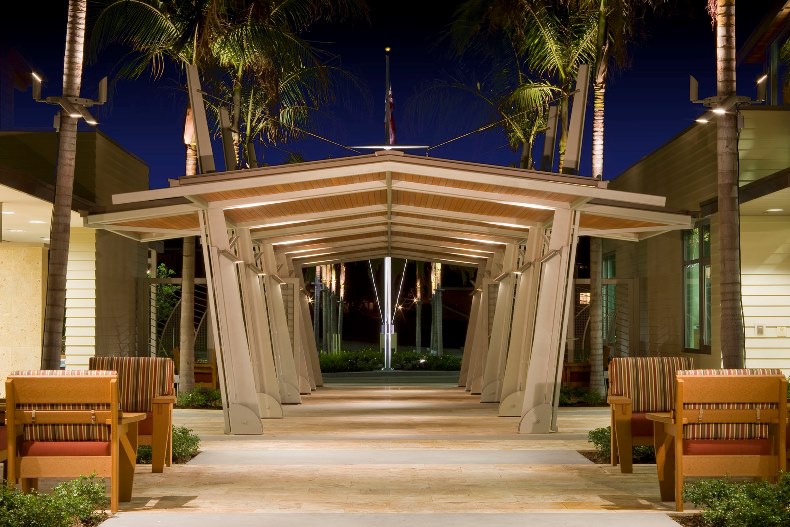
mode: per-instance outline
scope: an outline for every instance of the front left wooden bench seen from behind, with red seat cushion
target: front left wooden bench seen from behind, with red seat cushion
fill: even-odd
[[[110,479],[110,510],[130,501],[142,413],[123,413],[113,371],[13,372],[6,380],[8,485],[38,478]]]

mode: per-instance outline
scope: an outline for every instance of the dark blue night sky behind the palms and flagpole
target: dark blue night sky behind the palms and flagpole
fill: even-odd
[[[48,81],[44,96],[61,90],[66,1],[60,11],[41,3],[27,2],[4,17],[3,39],[15,47]],[[428,118],[430,112],[415,106],[415,95],[435,79],[457,71],[439,41],[450,20],[450,2],[371,1],[370,23],[351,22],[337,29],[320,28],[311,37],[316,44],[340,56],[342,66],[356,74],[365,86],[353,93],[350,104],[329,109],[321,119],[319,133],[341,144],[380,144],[383,141],[384,47],[393,48],[391,76],[395,97],[395,119],[401,144],[438,145],[462,135],[473,125],[475,112],[458,105],[455,111]],[[89,3],[90,4],[90,3]],[[688,75],[700,81],[700,96],[715,94],[715,42],[702,0],[678,0],[671,13],[647,21],[647,36],[631,52],[631,66],[615,74],[606,98],[606,179],[621,173],[668,139],[693,123],[702,109],[688,101]],[[741,2],[738,12],[738,42],[743,42],[768,0]],[[748,7],[745,7],[748,6]],[[93,5],[89,5],[89,14]],[[9,27],[10,24],[10,27]],[[88,64],[84,70],[84,97],[96,96],[98,79],[111,73],[112,64]],[[469,65],[467,65],[469,66]],[[742,95],[754,95],[756,71],[739,71]],[[110,93],[110,102],[96,111],[99,128],[150,167],[150,186],[167,185],[168,178],[184,172],[182,141],[186,96],[183,79],[175,69],[160,79],[144,77],[120,81]],[[411,109],[407,119],[405,110]],[[15,127],[51,129],[55,108],[36,104],[30,92],[16,92]],[[436,117],[436,116],[434,116]],[[591,114],[586,119],[581,174],[590,174]],[[482,125],[485,123],[478,123]],[[84,126],[84,124],[83,124]],[[306,159],[354,155],[316,139],[304,139],[281,149],[266,148],[266,162],[278,163],[285,150]],[[418,153],[424,153],[418,151]],[[459,160],[508,165],[518,155],[507,148],[504,137],[489,131],[474,134],[448,146],[432,149],[430,155]],[[215,148],[221,167],[221,151]]]

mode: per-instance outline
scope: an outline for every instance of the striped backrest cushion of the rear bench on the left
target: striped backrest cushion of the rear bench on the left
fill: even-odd
[[[91,357],[91,370],[118,372],[118,390],[124,412],[151,412],[152,399],[173,395],[173,360],[164,357]]]

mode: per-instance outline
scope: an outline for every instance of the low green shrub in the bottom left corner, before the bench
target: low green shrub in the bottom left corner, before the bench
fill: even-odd
[[[107,518],[108,500],[102,481],[81,476],[56,485],[49,494],[23,494],[0,488],[0,525],[3,527],[93,527]]]

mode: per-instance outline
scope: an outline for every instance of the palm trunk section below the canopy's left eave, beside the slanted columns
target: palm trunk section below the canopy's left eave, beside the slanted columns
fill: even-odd
[[[184,238],[181,264],[181,325],[178,390],[195,387],[195,237]]]

